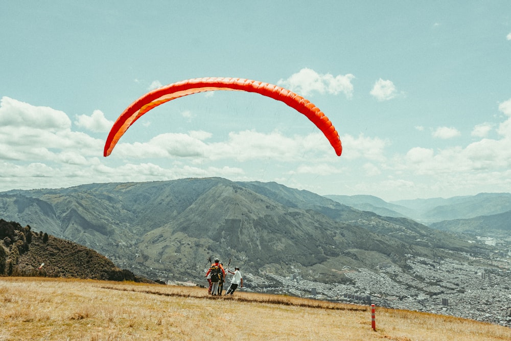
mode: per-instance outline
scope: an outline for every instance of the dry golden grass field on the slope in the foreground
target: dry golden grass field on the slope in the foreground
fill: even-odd
[[[199,287],[0,278],[0,340],[510,340],[456,317]]]

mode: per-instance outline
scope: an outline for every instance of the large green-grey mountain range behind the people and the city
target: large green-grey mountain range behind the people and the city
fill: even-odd
[[[511,200],[509,194],[481,196],[486,202],[497,196],[500,210]],[[406,254],[471,252],[466,238],[417,221],[433,212],[473,214],[469,207],[483,200],[476,197],[386,203],[276,183],[187,178],[2,192],[0,218],[85,245],[153,279],[204,281],[209,259],[219,257],[224,266],[253,274],[300,271],[304,278],[340,283],[346,266],[406,267]],[[478,212],[496,206],[478,206]]]

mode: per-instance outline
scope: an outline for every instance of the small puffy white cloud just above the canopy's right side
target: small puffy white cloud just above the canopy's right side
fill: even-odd
[[[293,92],[302,96],[310,95],[314,92],[324,94],[329,93],[337,95],[344,93],[346,98],[353,96],[352,74],[337,75],[318,74],[312,69],[301,69],[298,73],[291,75],[288,79],[281,79],[277,85],[284,86]]]

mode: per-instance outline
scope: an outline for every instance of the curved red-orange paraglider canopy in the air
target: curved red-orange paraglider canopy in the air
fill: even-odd
[[[128,128],[142,115],[154,107],[173,99],[206,91],[237,90],[257,93],[288,106],[305,115],[329,140],[338,156],[342,153],[341,140],[332,122],[307,99],[283,87],[243,78],[195,78],[162,86],[145,94],[128,106],[113,124],[106,139],[104,156],[110,155],[115,145]]]

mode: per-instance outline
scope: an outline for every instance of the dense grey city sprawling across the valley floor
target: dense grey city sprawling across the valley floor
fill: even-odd
[[[511,327],[511,237],[484,236],[475,238],[474,243],[492,245],[494,250],[476,249],[480,253],[473,254],[453,252],[453,258],[444,259],[407,255],[406,271],[390,263],[380,264],[377,271],[346,266],[345,276],[352,284],[305,280],[298,272],[287,278],[266,274],[265,277],[280,286],[265,289],[266,279],[251,274],[244,276],[247,283],[252,283],[251,289],[257,291],[372,303]]]

